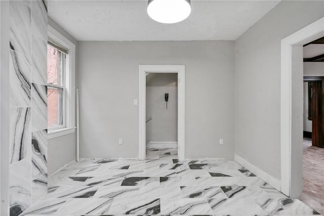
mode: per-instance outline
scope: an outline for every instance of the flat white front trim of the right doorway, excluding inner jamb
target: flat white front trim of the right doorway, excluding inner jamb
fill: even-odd
[[[281,40],[281,191],[290,196],[292,180],[292,46],[304,45],[324,35],[324,17]],[[300,158],[302,160],[302,158]],[[302,168],[302,167],[297,167]]]

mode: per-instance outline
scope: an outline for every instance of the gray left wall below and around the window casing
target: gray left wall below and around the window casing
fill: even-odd
[[[60,27],[50,17],[48,18],[48,24],[60,32],[63,36],[69,39],[75,45],[75,52],[77,54],[78,46],[77,41],[62,27]],[[76,58],[77,62],[77,58]],[[77,63],[75,68],[75,75],[77,76]],[[76,137],[75,132],[72,134],[64,135],[50,139],[48,141],[48,174],[52,175],[56,170],[71,162],[75,159],[75,145]]]

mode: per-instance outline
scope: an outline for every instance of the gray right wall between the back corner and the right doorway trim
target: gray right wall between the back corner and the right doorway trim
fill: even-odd
[[[282,1],[235,41],[235,153],[280,179],[280,42],[323,17],[323,1]]]

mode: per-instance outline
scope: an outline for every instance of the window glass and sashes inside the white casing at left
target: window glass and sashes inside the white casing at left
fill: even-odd
[[[55,46],[47,46],[48,128],[65,127],[65,57]]]

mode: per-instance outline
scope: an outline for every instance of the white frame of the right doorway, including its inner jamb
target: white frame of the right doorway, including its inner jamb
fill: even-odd
[[[281,40],[281,191],[292,198],[303,191],[303,46],[323,36],[324,17]]]

